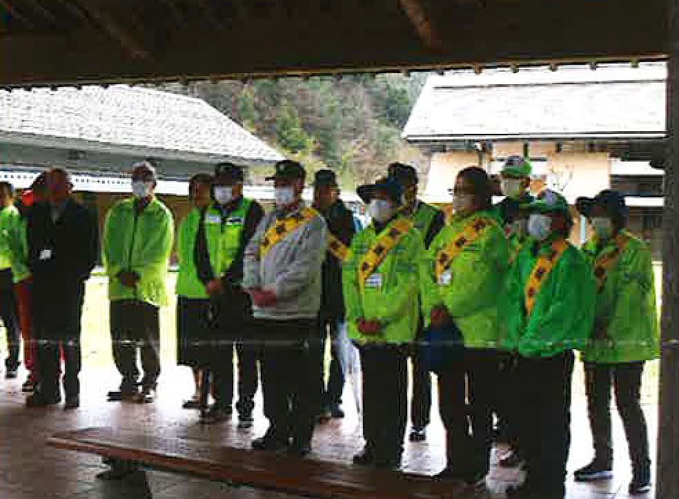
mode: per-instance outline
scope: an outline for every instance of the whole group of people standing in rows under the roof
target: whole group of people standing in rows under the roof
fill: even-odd
[[[137,164],[133,197],[113,206],[104,225],[101,253],[121,373],[110,400],[150,402],[160,371],[158,311],[167,300],[173,218],[153,194],[155,175],[148,162]],[[343,415],[339,350],[346,328],[362,365],[365,446],[356,464],[400,466],[411,357],[413,441],[426,439],[431,372],[437,374],[447,458],[440,476],[482,487],[496,421],[513,447],[513,459],[504,462],[527,471],[508,496],[562,499],[579,350],[595,458],[575,478],[611,477],[613,385],[633,467],[629,491],[647,491],[640,385],[644,362],[658,355],[649,249],[625,229],[624,197],[611,190],[578,199],[594,235],[575,248],[566,199],[548,189],[533,198],[530,176],[526,159],[510,157],[501,175],[506,198],[493,206],[489,175],[464,168],[446,223],[442,211],[417,199],[415,168],[394,163],[385,177],[357,189],[372,219],[363,229],[338,199],[331,170],[315,174],[313,204],[306,206],[302,165],[277,163],[267,178],[275,186],[275,208],[267,213],[244,197],[240,166],[222,163],[215,175],[193,177],[193,207],[177,234],[179,362],[193,368],[196,386],[184,407],[203,407],[210,383],[215,403],[206,420],[231,413],[235,352],[235,407],[239,427],[250,427],[259,361],[269,427],[253,447],[305,456],[318,418]],[[50,170],[46,179],[46,201],[17,222],[16,231],[26,234],[18,238],[23,252],[8,243],[3,254],[12,270],[22,263],[32,276],[39,382],[28,403],[60,401],[61,343],[66,402],[77,407],[83,283],[97,259],[97,228],[70,197],[68,173]]]

